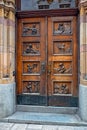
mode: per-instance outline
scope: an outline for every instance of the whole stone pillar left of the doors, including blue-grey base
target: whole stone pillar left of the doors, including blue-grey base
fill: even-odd
[[[0,0],[0,117],[14,111],[14,71],[15,0]]]

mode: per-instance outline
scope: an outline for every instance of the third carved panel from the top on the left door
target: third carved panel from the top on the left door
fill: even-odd
[[[40,74],[40,62],[39,61],[24,61],[23,62],[23,74]]]

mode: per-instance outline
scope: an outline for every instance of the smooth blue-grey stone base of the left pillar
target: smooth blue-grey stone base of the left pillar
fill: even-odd
[[[15,83],[0,84],[0,118],[10,116],[15,110]]]

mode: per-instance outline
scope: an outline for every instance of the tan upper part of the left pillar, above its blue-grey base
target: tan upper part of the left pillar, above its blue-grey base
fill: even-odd
[[[13,0],[0,0],[0,83],[14,82],[15,7]]]

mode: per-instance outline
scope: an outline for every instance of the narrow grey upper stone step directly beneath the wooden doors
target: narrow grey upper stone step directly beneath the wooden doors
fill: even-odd
[[[38,112],[38,113],[75,114],[78,111],[78,107],[52,107],[52,106],[17,105],[17,111]]]

